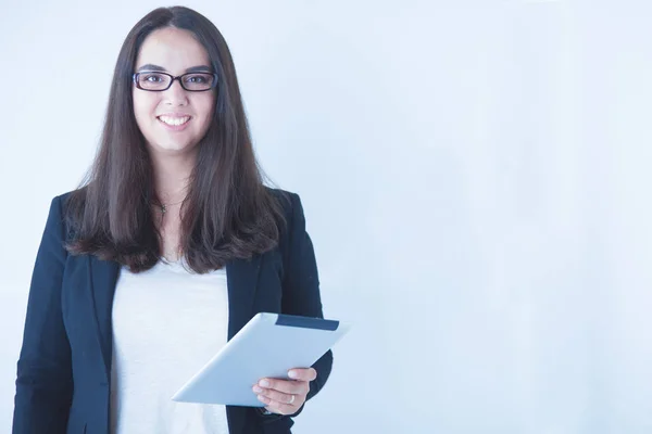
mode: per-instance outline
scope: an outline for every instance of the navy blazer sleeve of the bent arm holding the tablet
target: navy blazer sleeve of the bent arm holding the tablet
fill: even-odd
[[[284,264],[283,312],[324,318],[315,252],[305,231],[303,206],[299,195],[294,193],[290,193],[290,203],[291,213],[287,221],[288,247]],[[308,399],[313,398],[328,380],[333,367],[333,352],[328,350],[312,367],[317,371],[317,378],[310,384]]]

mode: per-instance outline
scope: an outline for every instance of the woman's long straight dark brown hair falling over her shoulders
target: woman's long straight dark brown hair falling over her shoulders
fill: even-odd
[[[188,8],[156,9],[127,35],[113,74],[98,154],[67,202],[66,220],[74,237],[66,248],[118,261],[134,272],[160,259],[161,234],[151,209],[159,199],[134,115],[131,76],[147,36],[171,26],[192,33],[218,75],[213,119],[197,144],[181,217],[180,247],[189,267],[203,273],[229,259],[273,248],[284,219],[278,197],[263,184],[226,41],[213,23]]]

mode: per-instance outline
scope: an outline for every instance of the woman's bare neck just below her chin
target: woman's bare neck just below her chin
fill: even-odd
[[[154,169],[154,189],[162,204],[183,201],[188,191],[188,183],[196,155],[160,155],[152,153]]]

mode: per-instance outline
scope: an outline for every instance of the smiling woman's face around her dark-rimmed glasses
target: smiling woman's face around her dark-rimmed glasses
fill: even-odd
[[[152,31],[142,42],[135,72],[164,72],[179,76],[205,67],[212,72],[206,50],[192,34],[173,27]],[[215,106],[215,89],[192,92],[179,80],[160,92],[133,85],[134,114],[150,152],[186,154],[196,152],[204,137]]]

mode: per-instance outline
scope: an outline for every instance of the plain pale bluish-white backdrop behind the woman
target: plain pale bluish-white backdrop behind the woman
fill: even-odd
[[[2,0],[0,432],[52,196],[158,2]],[[296,433],[652,432],[652,5],[192,1],[353,321]]]

